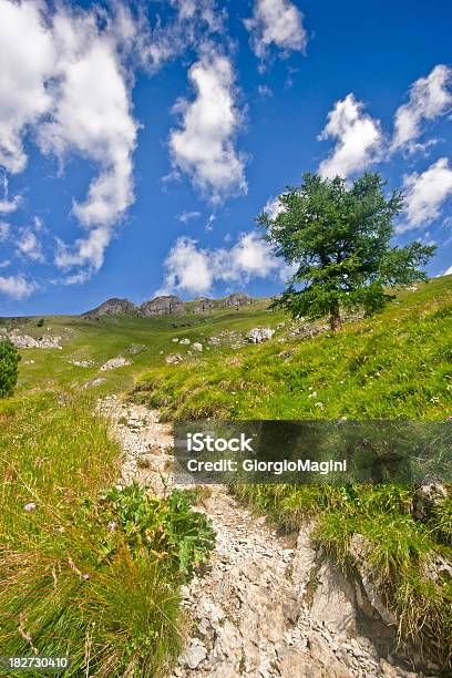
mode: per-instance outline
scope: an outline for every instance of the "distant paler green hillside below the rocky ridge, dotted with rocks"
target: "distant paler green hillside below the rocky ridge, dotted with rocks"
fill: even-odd
[[[41,318],[0,318],[2,328],[18,329],[21,335],[33,338],[43,335],[62,337],[62,350],[22,349],[19,392],[43,388],[78,388],[97,377],[101,384],[90,392],[102,394],[124,392],[150,368],[165,369],[165,356],[182,352],[188,362],[196,358],[187,356],[187,346],[178,346],[173,338],[188,338],[192,342],[206,340],[222,331],[246,332],[256,325],[277,325],[284,319],[281,312],[267,310],[268,301],[250,306],[220,309],[203,316],[165,316],[153,318],[127,318],[103,316],[99,320],[81,317],[49,316],[39,327]],[[142,352],[131,353],[132,347],[142,347]],[[134,350],[132,348],[132,350]],[[206,351],[207,353],[209,351]],[[99,372],[107,360],[123,356],[131,366]],[[93,367],[78,367],[71,361],[93,361]],[[30,362],[34,361],[34,362]]]

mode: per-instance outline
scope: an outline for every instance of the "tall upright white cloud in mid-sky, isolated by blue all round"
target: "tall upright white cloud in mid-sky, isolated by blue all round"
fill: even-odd
[[[196,96],[179,100],[174,107],[182,115],[182,129],[170,135],[173,167],[188,174],[214,203],[246,193],[245,161],[234,147],[242,115],[230,61],[210,45],[189,69],[188,78]]]

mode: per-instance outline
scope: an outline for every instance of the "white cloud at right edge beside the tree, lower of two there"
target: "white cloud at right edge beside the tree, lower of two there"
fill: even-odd
[[[425,172],[403,177],[407,222],[398,227],[399,233],[418,228],[438,219],[441,207],[452,195],[452,167],[446,157],[441,157]]]

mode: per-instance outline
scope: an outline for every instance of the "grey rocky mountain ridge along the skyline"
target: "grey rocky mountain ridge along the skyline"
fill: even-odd
[[[215,308],[230,308],[253,302],[254,299],[246,292],[234,292],[222,299],[198,297],[194,301],[183,301],[175,295],[163,295],[143,301],[141,306],[129,299],[113,297],[82,316],[89,319],[101,316],[184,316],[186,314],[207,314]]]

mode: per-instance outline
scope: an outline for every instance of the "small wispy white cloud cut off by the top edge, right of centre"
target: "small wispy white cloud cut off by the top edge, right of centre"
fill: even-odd
[[[245,20],[255,54],[264,59],[271,45],[284,52],[305,52],[308,42],[302,13],[289,0],[255,0],[253,17]]]

